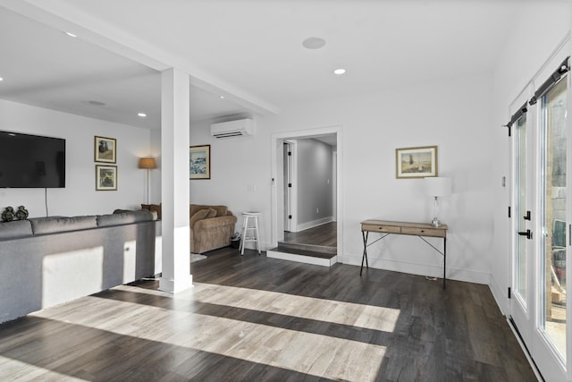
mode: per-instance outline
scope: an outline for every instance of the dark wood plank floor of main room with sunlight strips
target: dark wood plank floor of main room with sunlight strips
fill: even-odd
[[[225,248],[0,325],[0,380],[534,381],[487,286]]]

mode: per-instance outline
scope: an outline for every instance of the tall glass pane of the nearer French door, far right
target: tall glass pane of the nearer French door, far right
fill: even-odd
[[[559,81],[541,99],[541,318],[546,340],[566,361],[567,341],[567,81]]]

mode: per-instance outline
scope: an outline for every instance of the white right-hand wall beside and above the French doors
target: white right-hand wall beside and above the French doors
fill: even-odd
[[[509,137],[507,128],[501,126],[508,123],[515,112],[509,110],[509,105],[568,35],[572,27],[572,5],[569,2],[523,4],[521,12],[511,21],[511,27],[512,33],[493,74],[493,98],[489,106],[493,111],[491,142],[495,164],[491,173],[494,226],[491,289],[504,313],[509,307],[511,233],[507,213],[509,187],[501,186],[503,176],[509,179]],[[568,50],[568,55],[570,53]],[[558,64],[547,69],[552,72]]]

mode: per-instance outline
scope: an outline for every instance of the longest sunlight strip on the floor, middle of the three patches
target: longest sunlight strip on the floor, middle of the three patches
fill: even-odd
[[[386,352],[386,347],[382,345],[198,314],[190,310],[164,309],[94,296],[80,300],[75,302],[75,308],[78,303],[84,305],[81,313],[74,314],[69,310],[68,314],[60,317],[64,318],[63,322],[127,335],[150,343],[170,344],[290,369],[320,378],[374,380]],[[337,309],[332,309],[331,314],[337,314]],[[49,314],[49,309],[34,313],[37,317],[44,315],[52,320],[57,319]],[[122,325],[118,325],[116,320],[122,320]],[[172,368],[176,371],[177,365],[172,365]]]

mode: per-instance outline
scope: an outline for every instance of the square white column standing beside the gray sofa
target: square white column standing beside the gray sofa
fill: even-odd
[[[189,75],[162,73],[161,197],[163,276],[159,290],[181,292],[192,286],[189,244]]]

